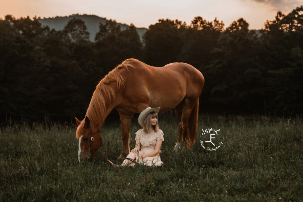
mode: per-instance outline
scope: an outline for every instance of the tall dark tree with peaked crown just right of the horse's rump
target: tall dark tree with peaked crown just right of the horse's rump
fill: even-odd
[[[218,40],[216,58],[205,69],[205,94],[218,111],[261,113],[262,70],[258,58],[259,41],[248,23],[234,21]],[[257,111],[257,109],[259,111]]]

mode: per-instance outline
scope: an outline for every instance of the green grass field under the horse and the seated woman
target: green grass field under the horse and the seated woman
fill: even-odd
[[[199,119],[196,144],[173,152],[178,123],[163,118],[161,168],[112,168],[122,139],[106,124],[95,163],[77,162],[76,126],[27,124],[0,131],[0,201],[303,201],[301,118],[234,121]],[[135,121],[133,121],[135,122]],[[202,129],[220,129],[212,141]],[[137,123],[131,127],[134,147]],[[205,149],[199,141],[203,141]]]

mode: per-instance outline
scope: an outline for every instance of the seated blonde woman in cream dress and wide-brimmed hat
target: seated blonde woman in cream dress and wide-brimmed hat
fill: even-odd
[[[147,166],[161,166],[159,153],[163,139],[163,132],[158,126],[158,112],[160,108],[146,108],[138,118],[139,124],[143,127],[136,132],[136,147],[128,154],[127,158],[144,164]],[[141,151],[140,150],[141,145]],[[125,159],[121,165],[113,164],[107,160],[112,166],[134,166],[135,163]]]

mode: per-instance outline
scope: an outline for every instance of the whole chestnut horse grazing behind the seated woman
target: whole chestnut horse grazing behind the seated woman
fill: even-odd
[[[147,107],[161,107],[159,113],[175,109],[180,121],[175,150],[182,141],[188,148],[195,143],[199,96],[204,85],[200,71],[186,63],[152,67],[127,59],[110,71],[96,86],[83,121],[76,118],[79,141],[78,161],[83,152],[90,159],[102,145],[100,129],[115,108],[122,126],[121,157],[129,154],[129,129],[134,114]]]

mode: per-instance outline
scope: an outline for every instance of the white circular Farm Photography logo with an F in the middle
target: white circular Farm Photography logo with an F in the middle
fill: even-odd
[[[208,151],[217,151],[218,148],[221,147],[221,145],[223,144],[223,142],[219,142],[219,144],[217,143],[219,141],[219,130],[213,130],[212,128],[208,128],[205,131],[202,129],[202,135],[206,138],[206,140],[209,141],[205,141],[205,145],[207,145],[208,147],[204,146],[204,143],[202,140],[200,140],[200,145],[203,149],[208,150]],[[213,140],[216,139],[216,140]],[[205,148],[206,147],[206,148]]]

